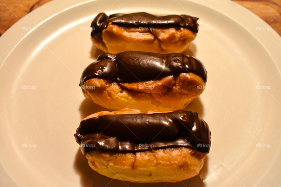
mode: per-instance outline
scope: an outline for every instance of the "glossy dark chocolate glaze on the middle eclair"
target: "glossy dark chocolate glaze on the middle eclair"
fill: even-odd
[[[203,63],[180,53],[149,53],[125,51],[104,53],[83,71],[80,86],[89,79],[110,79],[113,82],[129,83],[155,80],[156,78],[180,73],[193,72],[207,81],[207,71]]]

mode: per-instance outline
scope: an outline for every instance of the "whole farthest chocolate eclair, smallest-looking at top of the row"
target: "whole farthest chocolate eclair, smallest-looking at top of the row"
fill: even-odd
[[[91,36],[104,52],[181,53],[196,37],[197,20],[189,15],[99,13],[92,21]]]

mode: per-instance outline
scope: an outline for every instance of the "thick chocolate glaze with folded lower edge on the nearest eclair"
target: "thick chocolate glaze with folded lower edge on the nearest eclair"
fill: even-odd
[[[197,112],[103,115],[82,120],[76,134],[81,151],[138,152],[188,147],[208,153],[210,131]]]

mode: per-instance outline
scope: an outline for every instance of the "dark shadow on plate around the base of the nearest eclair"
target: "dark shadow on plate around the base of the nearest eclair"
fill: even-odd
[[[205,163],[204,166],[200,172],[200,176],[204,178],[204,175],[202,174],[206,174],[208,171],[208,157],[205,158]],[[81,182],[81,186],[83,187],[92,187],[92,186],[96,186],[96,187],[118,187],[118,186],[122,186],[122,187],[163,187],[163,186],[167,186],[167,187],[192,187],[192,186],[196,186],[196,187],[205,187],[205,184],[203,183],[203,181],[201,180],[201,178],[199,177],[199,175],[196,175],[194,177],[192,177],[191,179],[187,179],[181,182],[177,182],[177,183],[131,183],[131,182],[127,182],[127,181],[120,181],[117,179],[111,179],[108,178],[106,176],[100,175],[99,173],[95,172],[94,170],[92,170],[90,168],[90,166],[88,165],[88,160],[86,159],[85,155],[83,155],[80,151],[80,149],[78,149],[77,154],[76,154],[76,159],[74,161],[74,169],[76,170],[76,172],[80,175],[80,182]],[[202,178],[202,179],[203,179]]]

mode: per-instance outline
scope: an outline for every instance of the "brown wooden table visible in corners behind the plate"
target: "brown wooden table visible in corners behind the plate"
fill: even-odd
[[[20,18],[51,0],[0,0],[0,34]],[[246,7],[281,36],[281,0],[232,0]]]

